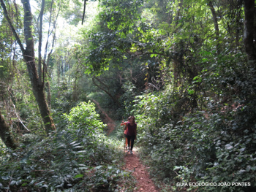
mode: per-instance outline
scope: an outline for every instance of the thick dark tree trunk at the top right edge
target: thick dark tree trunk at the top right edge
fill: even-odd
[[[254,45],[255,0],[244,0],[244,46],[249,64],[255,67],[256,53]]]

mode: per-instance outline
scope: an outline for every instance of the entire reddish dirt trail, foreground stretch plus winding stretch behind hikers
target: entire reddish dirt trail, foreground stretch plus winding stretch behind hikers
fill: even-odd
[[[116,123],[112,120],[108,114],[102,110],[99,103],[92,99],[97,107],[105,115],[104,123],[108,125],[108,134],[109,135],[116,127]],[[140,162],[140,158],[138,157],[137,147],[134,147],[133,154],[129,154],[126,152],[124,155],[124,162],[125,166],[124,169],[129,170],[132,172],[133,177],[137,180],[137,183],[134,187],[134,192],[158,192],[157,187],[154,185],[153,181],[151,180],[147,169],[143,164]]]

